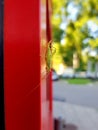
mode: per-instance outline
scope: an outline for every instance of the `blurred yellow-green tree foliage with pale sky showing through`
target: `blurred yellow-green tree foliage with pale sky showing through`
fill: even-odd
[[[74,53],[78,56],[79,70],[86,69],[85,57],[90,57],[90,50],[98,55],[98,30],[92,33],[93,24],[89,22],[98,25],[98,0],[53,0],[53,39],[60,44],[59,54],[67,66],[73,65]],[[84,56],[86,48],[90,49]]]

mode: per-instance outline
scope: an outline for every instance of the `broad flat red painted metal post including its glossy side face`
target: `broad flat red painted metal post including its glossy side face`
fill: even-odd
[[[46,1],[5,0],[4,12],[6,130],[52,130],[45,73]]]

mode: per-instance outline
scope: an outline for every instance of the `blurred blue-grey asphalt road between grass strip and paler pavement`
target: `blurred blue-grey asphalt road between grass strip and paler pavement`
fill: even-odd
[[[64,80],[55,81],[53,99],[98,109],[98,83],[70,85]]]

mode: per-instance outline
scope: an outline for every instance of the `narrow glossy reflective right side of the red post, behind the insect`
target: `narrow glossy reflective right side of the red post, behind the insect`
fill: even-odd
[[[41,95],[42,95],[42,130],[52,130],[52,84],[51,72],[46,72],[45,53],[51,40],[49,25],[48,0],[41,1]]]

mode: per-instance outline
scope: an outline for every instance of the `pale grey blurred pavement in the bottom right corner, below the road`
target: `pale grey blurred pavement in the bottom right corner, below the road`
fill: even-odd
[[[64,130],[98,130],[98,110],[53,101],[53,115],[65,120]]]

